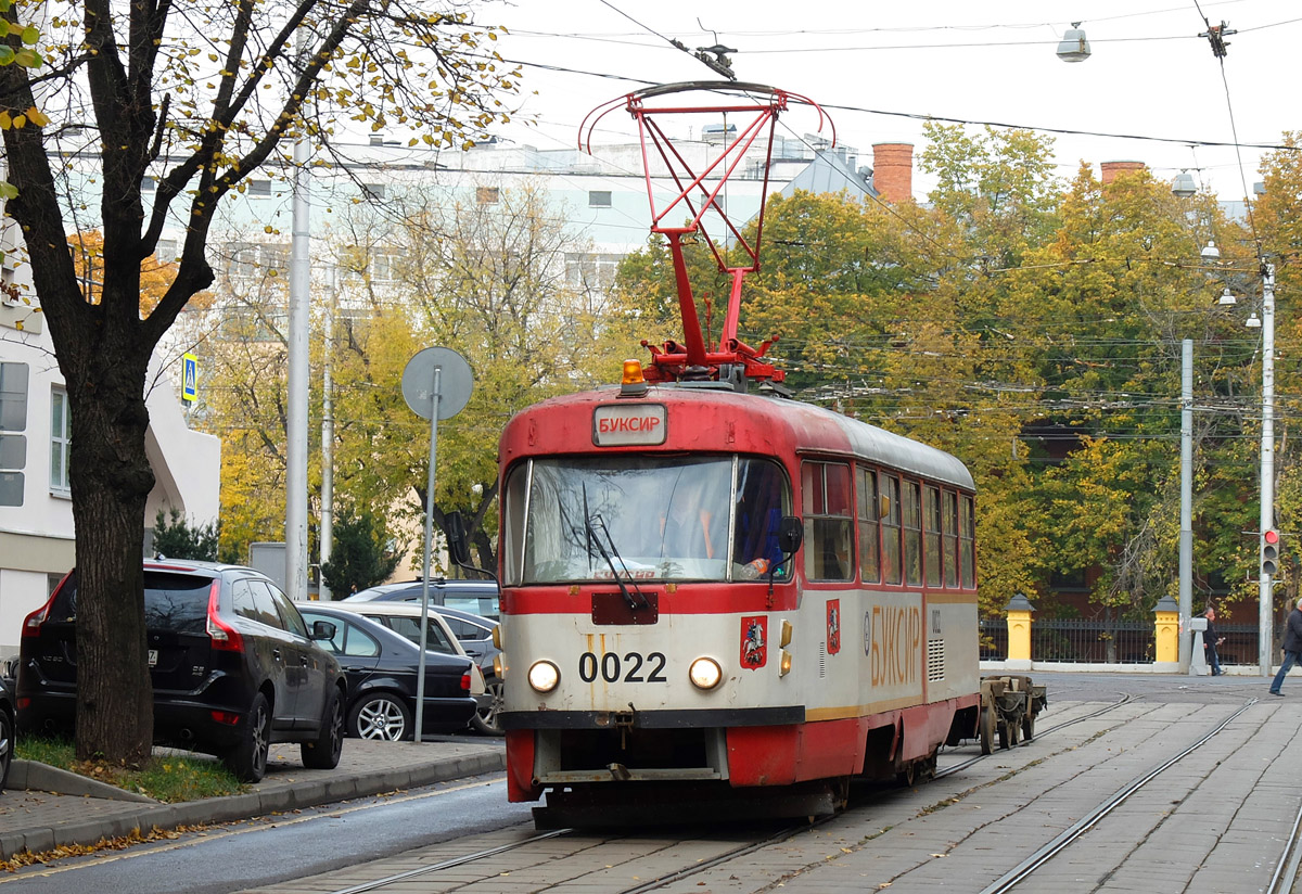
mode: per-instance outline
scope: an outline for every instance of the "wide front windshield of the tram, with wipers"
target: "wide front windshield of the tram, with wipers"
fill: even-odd
[[[506,582],[767,582],[790,502],[781,467],[766,459],[534,459],[506,483]]]

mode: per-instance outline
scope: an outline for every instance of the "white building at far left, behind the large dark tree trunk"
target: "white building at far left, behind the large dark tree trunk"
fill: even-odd
[[[142,547],[159,509],[174,508],[194,524],[217,519],[221,465],[221,441],[187,428],[158,362],[146,406],[145,446],[156,480]],[[68,431],[68,393],[44,320],[0,294],[0,657],[17,653],[23,617],[76,562]]]

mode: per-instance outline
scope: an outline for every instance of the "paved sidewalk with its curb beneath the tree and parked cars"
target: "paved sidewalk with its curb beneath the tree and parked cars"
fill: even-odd
[[[23,850],[94,845],[133,829],[174,829],[203,822],[247,820],[267,813],[378,795],[396,789],[493,773],[506,765],[501,739],[371,742],[345,739],[339,766],[310,770],[297,744],[271,747],[262,782],[245,794],[181,804],[160,804],[129,791],[16,760],[0,794],[0,859]]]

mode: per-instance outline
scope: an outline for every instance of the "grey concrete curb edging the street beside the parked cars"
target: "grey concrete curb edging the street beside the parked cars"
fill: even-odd
[[[20,764],[26,764],[18,776]],[[20,789],[27,783],[31,786],[34,761],[14,761],[10,768],[9,787]],[[38,764],[48,770],[55,768]],[[30,851],[55,850],[69,845],[95,845],[102,839],[120,838],[135,830],[150,832],[152,829],[172,830],[184,825],[201,825],[216,822],[232,822],[249,820],[268,813],[283,813],[286,811],[331,804],[352,798],[368,798],[397,789],[414,789],[418,786],[447,782],[482,773],[496,773],[506,768],[505,751],[483,751],[480,753],[462,755],[457,757],[444,757],[430,763],[415,764],[404,768],[387,768],[374,773],[359,772],[336,776],[332,778],[303,779],[301,782],[286,782],[268,787],[263,791],[253,791],[229,798],[207,798],[204,800],[185,802],[180,804],[160,804],[143,795],[135,795],[121,789],[113,789],[94,779],[83,779],[74,773],[55,770],[57,774],[76,777],[82,783],[103,786],[111,789],[115,795],[95,795],[100,798],[113,798],[122,802],[122,811],[113,816],[99,816],[83,821],[64,821],[57,825],[34,826],[23,830],[0,834],[0,859],[8,860],[14,854]],[[36,769],[38,781],[62,781],[62,777],[47,777]],[[74,785],[66,781],[66,785]],[[59,789],[38,787],[40,791],[61,791],[61,794],[91,794],[68,792]],[[122,796],[128,798],[124,799]],[[143,803],[138,803],[143,802]]]

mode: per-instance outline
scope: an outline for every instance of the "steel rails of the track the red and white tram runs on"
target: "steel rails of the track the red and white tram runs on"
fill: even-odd
[[[1014,747],[1023,747],[1023,746],[1027,746],[1027,744],[1032,744],[1034,742],[1044,739],[1046,737],[1051,737],[1055,733],[1059,733],[1059,731],[1061,731],[1061,730],[1064,730],[1064,729],[1066,729],[1069,726],[1073,726],[1075,724],[1079,724],[1079,722],[1083,722],[1083,721],[1088,721],[1088,720],[1104,716],[1104,714],[1107,714],[1107,713],[1109,713],[1112,711],[1116,711],[1116,709],[1118,709],[1118,708],[1121,708],[1121,707],[1131,703],[1133,700],[1134,700],[1134,696],[1122,694],[1121,698],[1118,698],[1117,701],[1115,701],[1112,704],[1104,705],[1104,707],[1101,707],[1101,708],[1099,708],[1096,711],[1092,711],[1090,713],[1081,714],[1079,717],[1072,717],[1070,720],[1062,721],[1060,724],[1055,724],[1055,725],[1048,726],[1046,729],[1036,730],[1036,735],[1035,735],[1035,738],[1032,740],[1023,742],[1019,746],[1014,746]],[[954,774],[954,773],[957,773],[957,772],[960,772],[962,769],[966,769],[966,768],[973,766],[974,764],[978,764],[982,760],[986,760],[988,757],[997,757],[1001,753],[1006,753],[1006,752],[1004,752],[1004,751],[995,751],[993,753],[990,753],[990,755],[976,755],[976,756],[974,756],[971,759],[960,761],[958,764],[953,764],[953,765],[947,766],[947,768],[944,768],[941,770],[937,770],[935,773],[935,778],[944,778],[944,777],[952,776],[952,774]],[[852,809],[862,809],[865,807],[871,807],[871,802],[868,802],[866,804],[861,804],[859,807],[852,808]],[[676,882],[680,882],[680,881],[684,881],[684,880],[690,878],[693,876],[697,876],[697,874],[700,874],[703,872],[707,872],[708,869],[712,869],[712,868],[715,868],[717,865],[721,865],[724,863],[728,863],[730,860],[736,860],[738,858],[746,856],[747,854],[753,854],[753,852],[760,851],[760,850],[763,850],[766,847],[771,847],[773,845],[777,845],[777,843],[781,843],[784,841],[788,841],[788,839],[793,838],[794,835],[809,833],[809,832],[811,832],[814,829],[818,829],[820,826],[824,826],[828,822],[832,822],[832,821],[837,820],[842,815],[837,813],[837,815],[832,815],[832,816],[827,816],[827,817],[822,817],[822,819],[814,820],[812,822],[799,822],[799,824],[792,824],[792,825],[784,826],[783,829],[779,829],[777,832],[773,832],[771,834],[763,835],[763,837],[753,839],[753,841],[747,841],[747,842],[740,843],[740,845],[737,845],[734,847],[728,847],[728,848],[725,848],[725,850],[723,850],[723,851],[720,851],[720,852],[717,852],[717,854],[715,854],[712,856],[699,859],[699,860],[694,861],[689,867],[682,867],[682,868],[672,871],[672,872],[665,872],[663,874],[656,876],[655,878],[650,878],[650,880],[646,880],[646,881],[639,881],[637,885],[630,886],[630,887],[622,887],[622,889],[612,890],[612,894],[646,894],[648,891],[655,891],[655,890],[664,889],[664,887],[667,887],[669,885],[673,885]],[[453,868],[457,868],[457,867],[464,867],[464,865],[467,865],[467,864],[471,864],[471,863],[475,863],[475,861],[479,861],[479,860],[486,860],[486,859],[491,859],[491,858],[495,858],[495,856],[500,856],[503,854],[509,854],[512,851],[523,850],[523,848],[531,847],[534,845],[538,845],[538,843],[542,843],[542,842],[546,842],[546,841],[549,841],[549,839],[565,838],[565,837],[575,835],[575,834],[581,834],[581,830],[577,830],[577,829],[557,829],[557,830],[551,830],[551,832],[546,832],[546,833],[539,833],[536,835],[531,835],[529,838],[523,838],[523,839],[517,841],[517,842],[510,842],[510,843],[506,843],[506,845],[500,845],[500,846],[495,846],[495,847],[490,847],[490,848],[483,848],[480,851],[475,851],[475,852],[466,854],[466,855],[462,855],[462,856],[449,858],[449,859],[445,859],[445,860],[440,860],[437,863],[431,863],[430,865],[418,867],[415,869],[408,869],[408,871],[400,872],[400,873],[393,873],[393,874],[389,874],[389,876],[384,876],[381,878],[375,878],[375,880],[371,880],[371,881],[367,881],[367,882],[361,882],[361,884],[357,884],[357,885],[352,885],[349,887],[336,889],[336,890],[329,891],[329,894],[365,894],[366,891],[379,891],[379,890],[384,890],[387,887],[393,887],[393,886],[404,885],[404,884],[406,884],[406,882],[409,882],[409,881],[411,881],[414,878],[418,878],[421,876],[427,876],[427,874],[431,874],[431,873],[436,873],[436,872],[441,872],[441,871],[447,871],[447,869],[453,869]],[[603,845],[621,842],[621,841],[625,841],[626,838],[628,837],[609,838],[609,839],[607,839],[604,842],[600,842],[596,846],[600,847]],[[539,889],[539,890],[547,890],[547,889],[543,887],[543,889]]]

